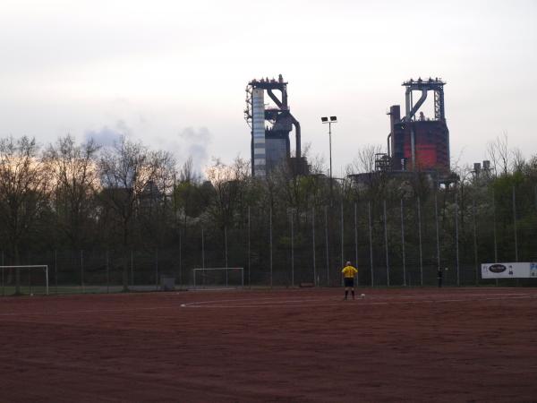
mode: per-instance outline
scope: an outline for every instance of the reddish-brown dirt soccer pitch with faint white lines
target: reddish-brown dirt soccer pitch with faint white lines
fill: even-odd
[[[0,298],[0,401],[537,401],[537,289],[361,293]]]

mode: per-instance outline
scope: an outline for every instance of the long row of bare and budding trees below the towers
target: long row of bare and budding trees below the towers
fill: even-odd
[[[308,176],[284,164],[254,179],[244,159],[215,159],[201,175],[192,159],[126,137],[112,147],[70,135],[47,146],[8,137],[0,140],[0,242],[10,264],[29,251],[118,251],[124,288],[127,251],[180,247],[185,267],[199,265],[201,230],[213,261],[258,270],[260,281],[276,268],[288,283],[290,267],[309,273],[323,262],[330,284],[331,268],[347,259],[371,265],[371,277],[373,265],[537,259],[537,157],[509,150],[507,136],[490,142],[489,170],[456,167],[447,186],[419,172],[356,182],[377,149],[358,150],[332,181],[321,159],[311,159]]]

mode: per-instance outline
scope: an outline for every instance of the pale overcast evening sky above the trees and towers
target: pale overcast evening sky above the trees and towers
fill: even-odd
[[[281,73],[311,157],[328,161],[320,116],[337,116],[335,175],[385,147],[388,108],[420,76],[447,81],[453,165],[503,133],[537,154],[535,0],[2,0],[0,55],[0,137],[43,145],[123,134],[201,172],[249,159],[245,87]]]

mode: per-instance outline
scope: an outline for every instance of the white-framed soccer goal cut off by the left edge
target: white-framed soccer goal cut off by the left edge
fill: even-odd
[[[3,296],[16,291],[17,278],[22,294],[46,294],[48,296],[48,266],[46,264],[0,266]]]

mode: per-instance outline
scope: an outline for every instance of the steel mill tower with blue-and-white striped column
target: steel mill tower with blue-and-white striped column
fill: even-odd
[[[279,91],[279,98],[275,91]],[[265,103],[265,94],[274,105]],[[282,164],[288,164],[295,175],[308,173],[307,161],[301,153],[300,123],[291,114],[287,102],[287,82],[281,74],[277,80],[266,78],[248,83],[244,118],[251,127],[252,176],[267,176]],[[293,126],[295,156],[291,157],[289,134]]]

